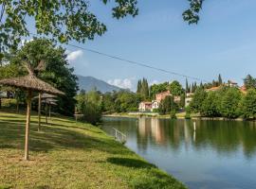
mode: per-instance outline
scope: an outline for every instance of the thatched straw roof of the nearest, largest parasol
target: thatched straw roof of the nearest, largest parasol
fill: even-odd
[[[45,92],[48,94],[64,94],[63,92],[55,89],[50,84],[35,77],[33,74],[27,75],[26,77],[13,77],[0,80],[0,85],[8,85],[11,87],[18,87],[36,92]]]

